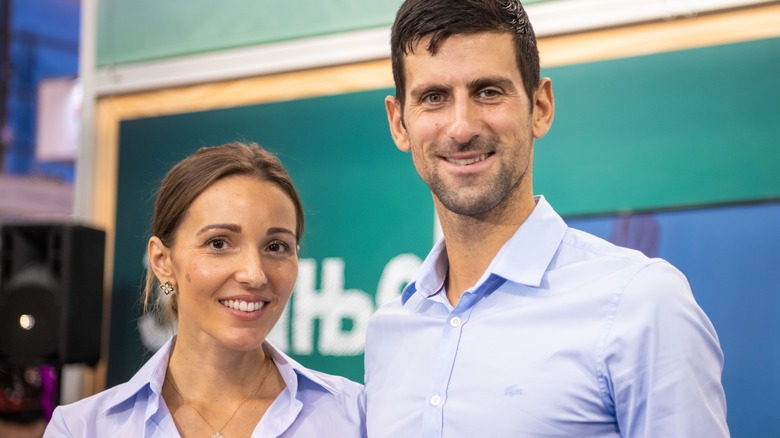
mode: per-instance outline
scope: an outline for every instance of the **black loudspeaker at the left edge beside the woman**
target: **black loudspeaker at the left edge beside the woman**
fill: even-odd
[[[97,363],[105,240],[77,224],[0,225],[0,361]]]

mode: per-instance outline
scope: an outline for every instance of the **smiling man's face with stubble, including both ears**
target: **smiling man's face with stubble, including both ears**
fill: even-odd
[[[516,65],[512,35],[447,38],[436,55],[422,39],[404,60],[404,111],[386,101],[399,149],[412,152],[417,172],[447,210],[475,216],[504,202],[532,199],[534,137],[552,122],[549,81],[529,100]],[[528,198],[528,199],[526,199]]]

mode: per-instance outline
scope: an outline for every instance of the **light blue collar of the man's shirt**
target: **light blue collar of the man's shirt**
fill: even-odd
[[[544,196],[537,196],[534,200],[534,210],[501,247],[477,285],[491,275],[527,286],[538,287],[541,284],[567,226]],[[441,239],[423,261],[416,280],[404,288],[401,302],[406,304],[415,292],[426,298],[438,293],[444,285],[447,267],[447,248],[444,239]]]

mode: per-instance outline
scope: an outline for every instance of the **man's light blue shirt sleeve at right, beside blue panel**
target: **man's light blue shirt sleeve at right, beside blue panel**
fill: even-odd
[[[604,369],[622,436],[729,436],[717,334],[670,264],[655,261],[626,285]]]

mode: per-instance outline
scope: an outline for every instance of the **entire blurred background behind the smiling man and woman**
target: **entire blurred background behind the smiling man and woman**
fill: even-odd
[[[233,140],[277,153],[306,208],[274,343],[362,380],[367,318],[439,236],[382,103],[399,4],[0,0],[0,437],[40,436],[56,404],[127,380],[171,335],[138,299],[154,189]],[[556,97],[536,192],[680,268],[726,355],[732,435],[780,436],[780,2],[524,4]],[[32,304],[20,259],[58,267]],[[20,329],[19,306],[49,316]]]

